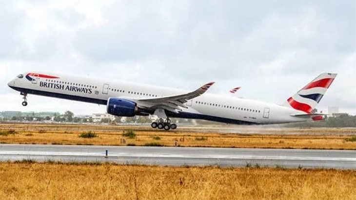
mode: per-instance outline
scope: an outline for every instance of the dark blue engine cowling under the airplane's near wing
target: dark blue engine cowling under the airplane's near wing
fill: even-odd
[[[137,112],[137,106],[133,101],[114,97],[109,98],[106,110],[111,115],[134,117]]]

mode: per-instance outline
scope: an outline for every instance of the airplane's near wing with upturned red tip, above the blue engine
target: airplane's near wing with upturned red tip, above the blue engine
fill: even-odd
[[[204,94],[214,83],[215,82],[209,82],[199,87],[197,90],[186,94],[160,98],[138,99],[136,102],[138,103],[138,106],[152,109],[162,108],[171,112],[178,113],[177,110],[182,110],[180,107],[188,108],[184,103]]]

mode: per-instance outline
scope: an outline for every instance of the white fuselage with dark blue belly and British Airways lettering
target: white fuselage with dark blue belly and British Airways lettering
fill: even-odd
[[[37,77],[32,80],[16,78],[8,85],[26,94],[56,97],[61,99],[79,100],[84,102],[106,104],[111,97],[127,99],[147,99],[188,93],[187,90],[131,83],[118,80],[97,80],[76,76],[51,74],[56,79]],[[251,124],[270,124],[305,121],[291,115],[305,114],[290,107],[272,103],[247,100],[236,97],[204,93],[185,103],[178,114],[171,117],[205,119],[226,123],[241,122]]]

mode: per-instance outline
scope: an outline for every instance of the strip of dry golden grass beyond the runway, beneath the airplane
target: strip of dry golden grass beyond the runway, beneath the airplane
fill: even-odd
[[[122,135],[129,129],[135,136]],[[12,133],[7,134],[9,132]],[[201,147],[356,149],[353,140],[356,129],[248,129],[241,132],[226,133],[218,128],[180,128],[166,132],[139,126],[0,124],[0,143],[174,146],[177,141],[179,146]],[[95,137],[79,137],[91,134]]]

